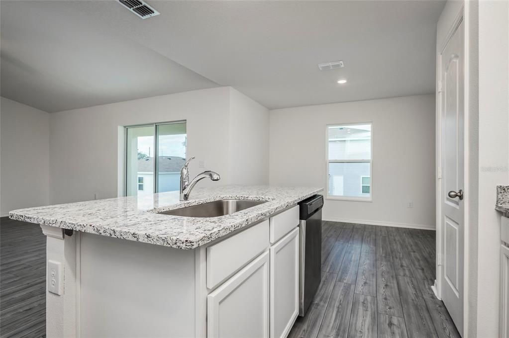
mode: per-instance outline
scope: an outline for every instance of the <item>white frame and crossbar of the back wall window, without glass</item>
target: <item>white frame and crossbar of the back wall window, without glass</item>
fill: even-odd
[[[329,160],[329,127],[347,127],[357,125],[371,125],[371,159],[362,160]],[[356,202],[373,202],[373,122],[352,122],[344,124],[330,124],[325,126],[325,199],[335,201],[356,201]],[[369,163],[370,164],[370,196],[337,196],[329,195],[329,163]],[[365,176],[367,177],[367,176]],[[362,185],[362,178],[361,178]],[[362,188],[361,188],[362,189]]]

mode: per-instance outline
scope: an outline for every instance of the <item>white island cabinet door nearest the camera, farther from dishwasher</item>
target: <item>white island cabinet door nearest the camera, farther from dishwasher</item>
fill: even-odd
[[[269,253],[265,252],[207,297],[208,338],[269,335]]]

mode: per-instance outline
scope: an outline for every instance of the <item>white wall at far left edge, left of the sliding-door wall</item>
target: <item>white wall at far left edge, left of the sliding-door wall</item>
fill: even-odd
[[[1,216],[49,201],[49,114],[0,98]]]

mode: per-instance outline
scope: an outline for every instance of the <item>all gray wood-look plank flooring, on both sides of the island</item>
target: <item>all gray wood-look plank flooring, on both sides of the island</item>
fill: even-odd
[[[46,238],[0,219],[0,335],[45,336]],[[460,337],[430,286],[435,232],[324,222],[322,283],[290,337]]]

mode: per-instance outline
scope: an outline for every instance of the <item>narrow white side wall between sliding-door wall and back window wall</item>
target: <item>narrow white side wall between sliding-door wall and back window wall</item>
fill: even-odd
[[[230,181],[269,182],[269,110],[230,88]]]

